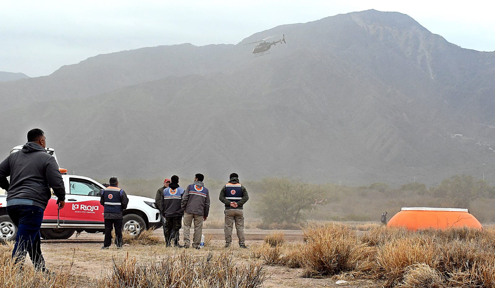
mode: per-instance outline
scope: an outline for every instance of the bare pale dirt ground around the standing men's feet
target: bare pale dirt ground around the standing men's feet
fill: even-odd
[[[191,229],[193,230],[193,229]],[[182,231],[181,231],[182,232]],[[297,244],[302,241],[302,231],[300,230],[284,230],[286,245]],[[264,243],[263,239],[266,235],[273,233],[270,230],[245,230],[246,244],[250,248],[254,248]],[[193,234],[193,231],[191,231]],[[189,253],[206,255],[209,249],[220,252],[226,251],[224,247],[224,234],[221,229],[203,229],[203,234],[206,238],[206,246],[204,249],[195,250],[187,249]],[[163,238],[163,230],[154,231],[154,235]],[[192,235],[191,235],[192,236]],[[181,233],[182,243],[182,233]],[[232,243],[237,244],[235,231],[232,235]],[[123,249],[117,250],[114,246],[108,250],[101,250],[103,243],[103,235],[81,233],[77,238],[74,234],[67,240],[48,240],[43,241],[42,251],[45,256],[47,265],[52,270],[68,269],[79,275],[82,283],[91,278],[104,277],[106,273],[110,273],[112,268],[112,258],[119,259],[124,257],[136,257],[156,259],[169,253],[182,253],[184,249],[165,247],[164,244],[153,246],[124,246]],[[246,261],[251,257],[250,249],[241,249],[237,245],[232,245],[235,256],[239,261]],[[26,261],[28,262],[28,260]],[[29,264],[28,264],[29,265]],[[72,267],[71,267],[72,265]],[[263,287],[280,288],[280,287],[382,287],[378,282],[368,282],[362,280],[346,279],[349,284],[346,286],[336,285],[335,279],[310,279],[302,278],[302,269],[291,269],[282,266],[266,266],[269,272],[269,279],[264,283]],[[85,280],[86,279],[86,280]]]

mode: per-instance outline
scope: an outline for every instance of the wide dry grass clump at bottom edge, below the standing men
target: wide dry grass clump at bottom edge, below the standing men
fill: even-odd
[[[159,262],[126,257],[113,263],[113,272],[102,277],[99,288],[254,288],[268,278],[262,264],[240,264],[229,252],[195,257],[184,251]]]

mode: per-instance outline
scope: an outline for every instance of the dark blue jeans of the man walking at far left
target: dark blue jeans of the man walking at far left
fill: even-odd
[[[14,263],[24,263],[26,252],[29,253],[33,266],[45,271],[45,258],[41,252],[40,227],[44,209],[32,205],[7,206],[7,214],[17,227],[15,245],[12,250]]]

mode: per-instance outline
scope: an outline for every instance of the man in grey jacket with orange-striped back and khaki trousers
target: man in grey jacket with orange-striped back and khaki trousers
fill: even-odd
[[[187,186],[182,196],[182,209],[184,210],[184,248],[189,248],[191,239],[189,233],[194,220],[193,248],[199,249],[203,221],[206,221],[210,211],[210,195],[203,184],[203,174],[196,174],[194,183]]]

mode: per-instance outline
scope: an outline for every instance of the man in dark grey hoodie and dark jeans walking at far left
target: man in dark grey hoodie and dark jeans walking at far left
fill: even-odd
[[[51,198],[50,187],[57,197],[58,209],[65,204],[65,188],[55,158],[45,150],[47,138],[43,130],[32,129],[27,136],[28,143],[0,163],[0,187],[7,191],[7,213],[17,227],[14,263],[22,265],[28,252],[34,267],[46,272],[40,246],[43,213]]]

